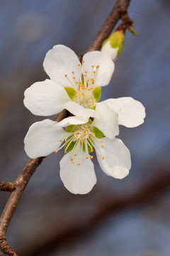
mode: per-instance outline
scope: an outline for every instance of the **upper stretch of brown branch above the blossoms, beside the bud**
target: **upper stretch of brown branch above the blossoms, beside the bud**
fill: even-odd
[[[129,4],[130,0],[117,0],[115,2],[111,14],[106,18],[106,21],[103,23],[100,31],[98,31],[96,38],[93,43],[91,43],[87,52],[101,49],[101,44],[106,38],[108,38],[108,36],[110,36],[116,23],[121,18],[122,14],[128,9]]]

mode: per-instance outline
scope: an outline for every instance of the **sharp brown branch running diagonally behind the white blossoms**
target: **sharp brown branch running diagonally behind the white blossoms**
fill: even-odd
[[[101,27],[101,30],[98,32],[94,42],[91,44],[87,51],[91,50],[100,50],[101,43],[105,40],[111,31],[113,30],[115,24],[118,22],[122,11],[125,11],[128,8],[130,0],[118,0],[111,11],[111,14],[106,19],[105,23]],[[63,110],[57,117],[55,117],[55,121],[59,122],[67,116],[67,111]],[[33,176],[34,171],[41,164],[42,159],[44,157],[39,157],[37,159],[30,159],[26,164],[25,168],[21,172],[20,176],[16,179],[16,181],[7,182],[2,181],[0,183],[0,191],[11,191],[11,196],[8,198],[8,202],[4,208],[3,213],[0,218],[0,249],[7,255],[17,256],[13,249],[6,242],[6,230],[11,221],[13,213],[18,206],[18,202],[23,194],[24,189],[26,188],[28,181],[31,176]]]

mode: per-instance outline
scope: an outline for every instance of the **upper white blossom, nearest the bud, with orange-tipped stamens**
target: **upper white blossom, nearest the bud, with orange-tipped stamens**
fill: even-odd
[[[98,117],[94,109],[101,87],[108,85],[114,71],[108,54],[91,51],[80,63],[73,50],[57,45],[47,52],[43,65],[50,80],[35,82],[24,93],[30,112],[45,116],[66,109],[79,117]]]

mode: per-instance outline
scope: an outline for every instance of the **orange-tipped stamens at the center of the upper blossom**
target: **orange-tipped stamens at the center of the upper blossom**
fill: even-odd
[[[69,80],[70,85],[72,85],[72,88],[75,90],[74,101],[83,107],[94,108],[96,106],[95,103],[100,99],[101,96],[100,90],[100,95],[96,100],[96,92],[94,92],[99,65],[96,65],[96,67],[91,65],[91,72],[88,74],[88,71],[84,68],[84,60],[82,60],[81,63],[82,65],[78,64],[79,78],[74,76],[74,71],[72,71],[72,80],[70,80],[67,75],[65,75],[65,78]]]

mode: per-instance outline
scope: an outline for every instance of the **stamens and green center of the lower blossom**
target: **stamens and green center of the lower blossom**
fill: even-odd
[[[94,149],[96,149],[96,151],[102,159],[105,159],[104,156],[101,155],[101,153],[94,145],[94,142],[98,142],[99,146],[103,148],[103,139],[96,137],[97,134],[95,133],[96,132],[93,131],[93,127],[91,127],[91,124],[89,123],[74,126],[72,132],[68,132],[64,139],[64,144],[60,146],[60,149],[64,147],[64,154],[66,154],[69,151],[72,151],[70,158],[72,164],[74,164],[74,162],[77,162],[77,165],[80,165],[82,151],[85,151],[86,159],[93,159],[94,156],[91,156],[91,153],[94,152]],[[61,139],[60,142],[62,142]],[[60,149],[56,150],[55,153],[57,153]]]

